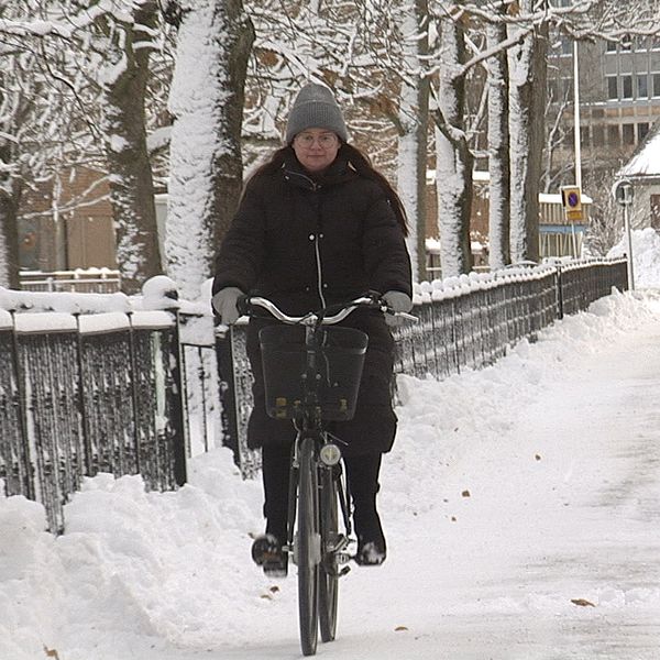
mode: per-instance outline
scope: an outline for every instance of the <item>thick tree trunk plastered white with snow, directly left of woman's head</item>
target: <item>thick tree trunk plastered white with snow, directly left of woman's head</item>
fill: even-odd
[[[196,298],[212,275],[241,195],[244,86],[254,29],[241,0],[185,0],[180,7],[169,100],[175,121],[166,252],[168,274],[185,297]]]

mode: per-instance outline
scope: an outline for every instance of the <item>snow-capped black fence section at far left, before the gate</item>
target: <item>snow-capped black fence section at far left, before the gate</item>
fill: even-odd
[[[84,476],[186,481],[176,314],[11,314],[0,326],[0,479],[46,509]],[[8,322],[9,321],[9,322]]]

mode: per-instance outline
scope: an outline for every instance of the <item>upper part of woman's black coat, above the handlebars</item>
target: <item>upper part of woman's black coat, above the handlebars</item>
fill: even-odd
[[[213,294],[227,286],[300,315],[369,289],[411,296],[410,260],[377,183],[341,157],[315,180],[294,158],[248,185],[217,257]]]

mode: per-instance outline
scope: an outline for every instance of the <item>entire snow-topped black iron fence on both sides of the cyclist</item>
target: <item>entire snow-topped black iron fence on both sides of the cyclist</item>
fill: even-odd
[[[396,371],[443,378],[492,364],[520,339],[534,341],[556,319],[627,286],[625,260],[424,283],[419,322],[395,330]],[[0,309],[7,494],[42,502],[55,531],[85,475],[140,473],[150,488],[175,488],[186,481],[186,458],[219,444],[233,449],[245,476],[254,474],[245,327],[222,336],[212,317],[185,306],[98,314],[117,308],[117,298],[92,300],[94,309],[77,304],[75,314],[35,314],[34,305],[29,311],[0,296],[11,309]]]

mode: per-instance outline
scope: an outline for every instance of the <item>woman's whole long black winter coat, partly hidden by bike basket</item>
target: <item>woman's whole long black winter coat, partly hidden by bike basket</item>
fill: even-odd
[[[275,174],[253,178],[222,242],[213,294],[235,286],[273,300],[298,316],[367,290],[411,296],[410,260],[404,235],[382,187],[355,173],[341,157],[323,177],[305,174],[295,156]],[[248,354],[255,407],[248,442],[287,442],[290,421],[266,416],[257,331],[251,320]],[[346,454],[388,451],[396,417],[391,405],[394,342],[383,315],[358,310],[342,324],[370,337],[355,417],[334,422]]]

